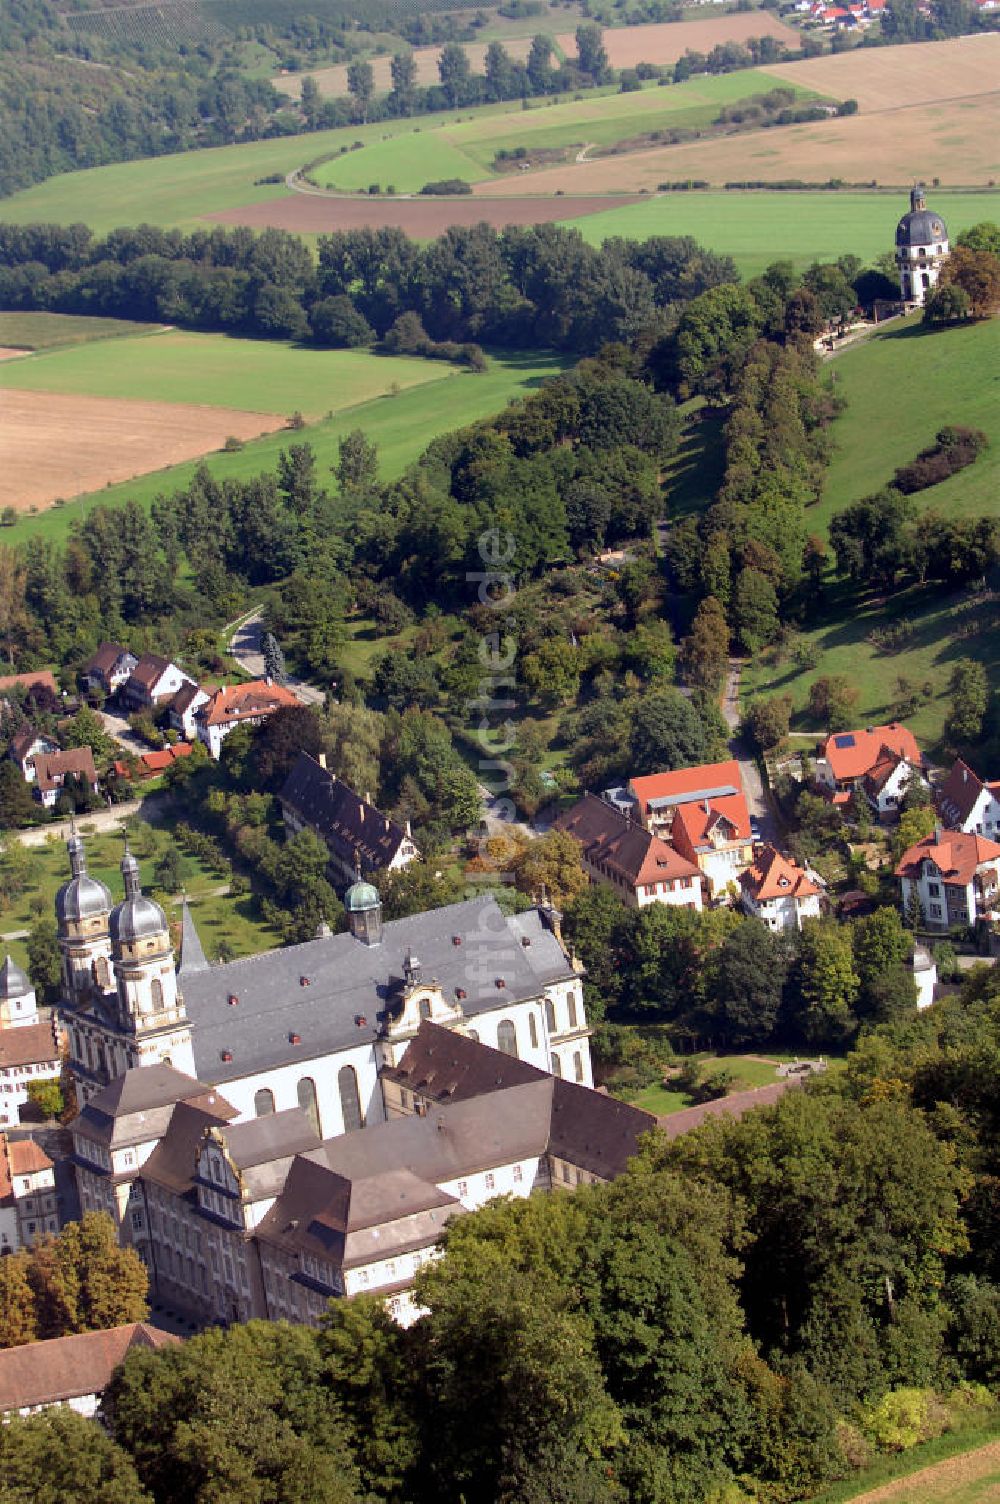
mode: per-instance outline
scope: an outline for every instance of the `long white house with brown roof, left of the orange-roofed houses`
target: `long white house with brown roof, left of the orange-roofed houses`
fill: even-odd
[[[583,794],[553,826],[579,841],[591,883],[614,887],[630,908],[671,904],[701,911],[701,869],[632,812],[623,814],[605,799]]]

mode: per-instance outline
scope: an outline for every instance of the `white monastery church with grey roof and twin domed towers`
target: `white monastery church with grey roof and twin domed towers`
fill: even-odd
[[[552,907],[507,917],[483,896],[383,922],[358,880],[347,932],[209,964],[185,902],[177,966],[128,848],[120,902],[80,835],[68,851],[56,919],[80,1108],[135,1066],[170,1065],[224,1090],[238,1122],[299,1107],[332,1139],[386,1117],[382,1072],[424,1020],[592,1086],[580,967]]]

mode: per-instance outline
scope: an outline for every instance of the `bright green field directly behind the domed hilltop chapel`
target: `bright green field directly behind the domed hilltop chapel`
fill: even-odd
[[[755,277],[773,260],[808,266],[853,253],[872,262],[892,251],[901,202],[905,208],[905,194],[898,193],[671,193],[574,223],[591,245],[615,235],[633,241],[693,235],[710,250],[732,256],[744,277]],[[934,202],[952,239],[979,220],[1000,220],[1000,193],[938,188]]]

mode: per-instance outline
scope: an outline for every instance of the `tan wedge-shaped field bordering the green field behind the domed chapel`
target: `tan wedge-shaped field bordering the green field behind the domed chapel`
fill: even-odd
[[[913,48],[892,51],[902,54]],[[780,77],[783,69],[774,68],[773,74]],[[842,177],[848,183],[883,186],[940,177],[949,188],[985,186],[1000,177],[1000,93],[567,162],[531,173],[531,190],[540,194],[656,193],[659,183],[686,177],[714,186],[789,177],[803,182]],[[501,179],[474,188],[475,194],[490,199],[516,191],[523,194],[523,180]]]

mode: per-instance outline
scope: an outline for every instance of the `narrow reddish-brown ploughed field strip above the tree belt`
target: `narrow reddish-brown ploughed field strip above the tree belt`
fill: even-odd
[[[543,176],[543,174],[538,174]],[[269,203],[251,203],[245,209],[224,209],[208,214],[220,224],[248,224],[254,230],[322,232],[359,230],[371,227],[405,230],[415,241],[433,241],[453,224],[550,224],[556,220],[577,220],[602,209],[621,209],[635,203],[632,196],[595,196],[586,199],[334,199],[320,194],[289,194]]]

